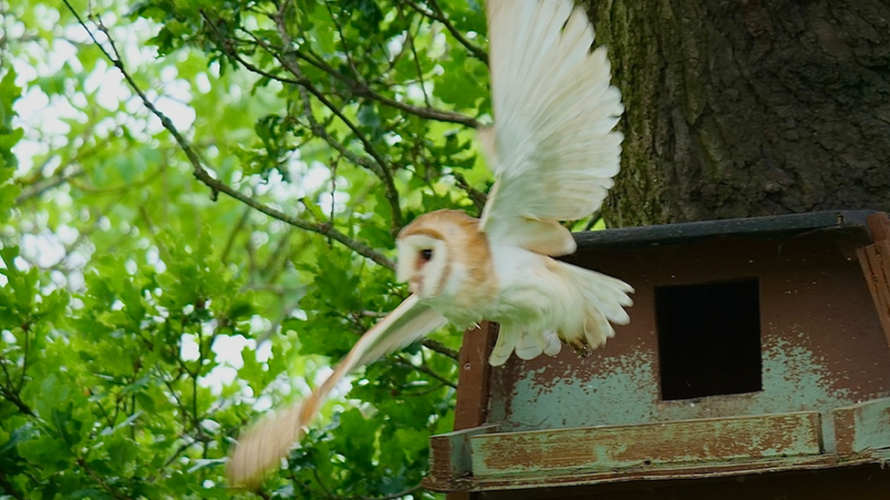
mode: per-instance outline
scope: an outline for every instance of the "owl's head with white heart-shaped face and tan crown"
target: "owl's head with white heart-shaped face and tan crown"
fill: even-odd
[[[435,299],[457,290],[480,259],[490,257],[479,219],[460,210],[421,215],[398,233],[396,278],[408,283],[421,299]],[[484,254],[484,255],[481,255]]]

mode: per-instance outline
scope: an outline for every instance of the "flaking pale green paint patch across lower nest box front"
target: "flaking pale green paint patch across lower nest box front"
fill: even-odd
[[[801,336],[792,332],[791,337]],[[777,334],[766,337],[763,390],[758,393],[661,401],[656,353],[635,348],[623,356],[600,358],[589,378],[576,365],[564,363],[525,372],[499,411],[492,408],[492,416],[501,417],[506,428],[531,430],[803,410],[827,413],[855,403],[847,389],[834,388],[837,374],[822,357]]]

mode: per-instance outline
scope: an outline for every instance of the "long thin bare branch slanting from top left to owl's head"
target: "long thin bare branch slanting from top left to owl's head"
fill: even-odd
[[[68,0],[63,0],[68,10],[77,18],[78,23],[82,26],[86,31],[88,36],[93,40],[93,43],[98,46],[98,49],[102,52],[106,58],[109,59],[112,65],[118,68],[121,75],[123,75],[124,79],[129,84],[129,87],[133,89],[134,92],[140,97],[142,101],[142,105],[149,109],[151,114],[160,119],[160,124],[163,128],[166,128],[168,132],[170,132],[171,136],[176,140],[177,144],[179,144],[183,153],[185,153],[186,158],[189,159],[189,163],[191,163],[191,167],[194,170],[194,176],[196,179],[202,181],[204,185],[212,190],[212,198],[216,199],[219,196],[219,193],[223,193],[230,198],[237,199],[241,201],[243,204],[251,207],[253,209],[257,209],[264,214],[272,217],[273,219],[281,220],[295,228],[299,228],[301,230],[308,230],[312,232],[316,232],[323,236],[326,236],[332,240],[336,240],[347,248],[356,251],[359,255],[366,257],[367,259],[374,260],[378,264],[383,267],[386,267],[390,270],[395,270],[396,265],[392,260],[389,260],[385,255],[380,253],[378,250],[374,250],[364,243],[361,243],[357,240],[353,240],[349,238],[346,234],[336,230],[330,223],[318,223],[312,222],[304,219],[299,219],[295,217],[290,217],[285,213],[281,212],[278,209],[274,209],[264,203],[253,199],[240,191],[233,189],[232,187],[224,184],[218,179],[214,179],[212,175],[207,171],[206,168],[203,167],[201,158],[198,158],[197,153],[195,153],[194,149],[191,148],[191,144],[186,138],[182,137],[180,131],[173,125],[170,118],[160,112],[160,110],[154,106],[154,104],[150,101],[149,97],[145,95],[142,89],[137,85],[136,81],[133,80],[133,77],[129,75],[129,72],[124,67],[123,62],[120,60],[118,56],[112,56],[105,49],[104,46],[101,46],[96,39],[96,36],[93,32],[88,28],[88,26],[83,22],[78,15],[77,11],[74,10],[74,7],[68,2]],[[102,28],[99,28],[102,29]],[[103,30],[106,36],[109,34]],[[109,40],[111,38],[109,37]]]

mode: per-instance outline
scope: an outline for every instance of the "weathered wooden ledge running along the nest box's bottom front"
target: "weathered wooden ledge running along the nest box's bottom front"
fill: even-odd
[[[890,398],[833,410],[837,452],[818,412],[433,436],[424,486],[471,492],[698,479],[890,462]]]

